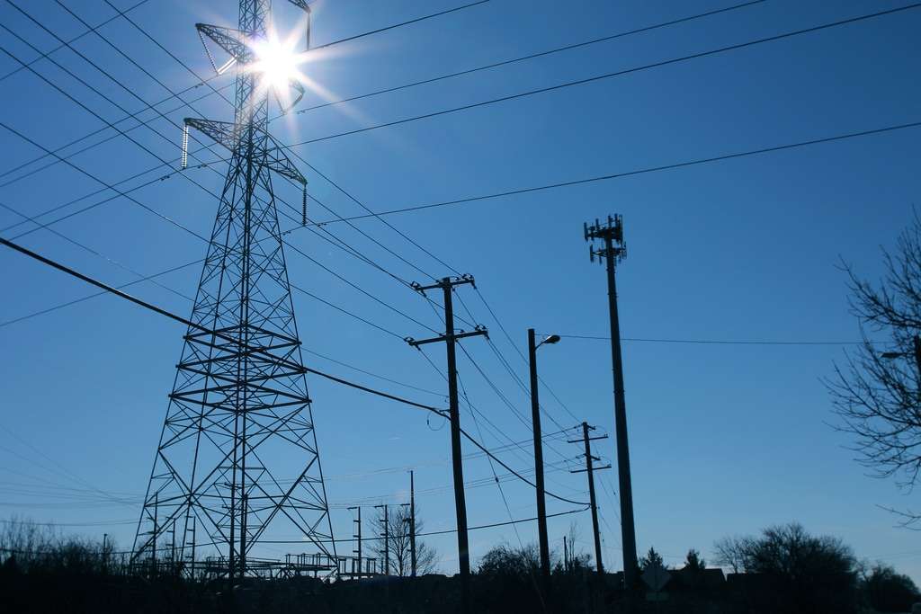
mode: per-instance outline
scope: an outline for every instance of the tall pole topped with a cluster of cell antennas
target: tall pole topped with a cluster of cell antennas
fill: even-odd
[[[624,545],[624,586],[636,583],[636,530],[633,516],[633,486],[630,480],[630,447],[627,444],[627,410],[624,400],[624,365],[621,359],[621,325],[617,315],[617,281],[614,269],[626,257],[624,222],[620,215],[608,216],[606,226],[596,219],[594,226],[583,225],[586,241],[601,239],[604,247],[589,245],[589,260],[607,261],[608,309],[611,316],[611,362],[614,376],[614,426],[617,435],[617,479],[621,495],[621,542]]]

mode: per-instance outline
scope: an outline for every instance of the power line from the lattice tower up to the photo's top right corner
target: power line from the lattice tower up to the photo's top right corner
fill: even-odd
[[[392,122],[383,122],[383,123],[378,123],[378,124],[374,124],[371,126],[365,126],[363,128],[356,128],[354,130],[348,130],[342,133],[328,134],[326,136],[320,136],[317,138],[308,139],[306,141],[301,141],[299,143],[295,143],[292,145],[287,145],[287,147],[297,147],[300,145],[320,143],[321,141],[328,141],[330,139],[339,138],[341,136],[349,136],[351,134],[358,134],[358,133],[367,133],[372,130],[379,130],[380,128],[389,128],[391,126],[401,125],[403,123],[417,122],[419,120],[426,120],[426,119],[430,119],[433,117],[440,117],[442,115],[449,115],[451,113],[457,113],[457,112],[461,112],[464,110],[479,109],[480,107],[485,107],[485,106],[496,104],[499,102],[507,102],[509,100],[527,98],[530,96],[536,96],[538,94],[546,94],[548,92],[553,92],[553,91],[557,91],[560,89],[564,89],[565,87],[575,87],[575,86],[587,85],[589,83],[595,83],[595,82],[598,82],[604,79],[610,79],[615,76],[631,75],[631,74],[638,73],[641,71],[651,70],[653,68],[660,68],[662,66],[668,66],[670,64],[679,64],[682,62],[689,62],[691,60],[696,60],[696,59],[711,56],[711,55],[717,55],[719,53],[738,51],[740,49],[745,49],[747,47],[764,44],[766,42],[781,41],[781,40],[788,39],[791,37],[800,36],[802,34],[810,34],[812,32],[821,31],[823,29],[837,28],[839,26],[857,23],[857,22],[864,21],[867,19],[872,19],[875,17],[888,16],[888,15],[892,15],[892,14],[899,13],[902,11],[911,10],[919,6],[921,6],[921,3],[915,3],[913,5],[908,5],[908,6],[899,6],[899,7],[891,8],[885,11],[870,13],[868,15],[861,15],[859,17],[850,17],[848,19],[841,19],[839,21],[822,24],[821,26],[813,26],[812,28],[798,29],[798,30],[794,30],[791,32],[785,32],[783,34],[776,34],[775,36],[769,36],[769,37],[765,37],[762,39],[757,39],[754,41],[741,42],[735,45],[719,47],[717,49],[709,50],[706,52],[692,53],[690,55],[683,55],[682,57],[672,58],[670,60],[662,60],[660,62],[654,62],[652,64],[643,64],[641,66],[635,66],[634,68],[626,68],[624,70],[614,71],[612,73],[605,73],[603,75],[589,76],[584,79],[568,81],[566,83],[557,84],[555,86],[539,87],[537,89],[530,89],[528,91],[519,92],[518,94],[511,94],[511,95],[503,96],[499,98],[490,98],[488,100],[482,100],[480,102],[473,102],[471,104],[461,105],[460,107],[453,107],[451,109],[432,111],[430,113],[424,113],[422,115],[414,115],[413,117],[403,118],[401,120],[394,120]],[[350,219],[353,219],[353,218],[350,218]]]

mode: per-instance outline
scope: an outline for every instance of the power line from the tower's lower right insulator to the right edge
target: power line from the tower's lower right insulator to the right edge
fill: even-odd
[[[786,144],[786,145],[775,145],[775,146],[771,146],[771,147],[762,147],[762,148],[759,148],[759,149],[752,149],[752,150],[743,151],[743,152],[737,152],[737,153],[732,153],[732,154],[723,154],[723,155],[720,155],[720,156],[711,156],[711,157],[697,158],[697,159],[695,159],[695,160],[689,160],[689,161],[685,161],[685,162],[676,162],[676,163],[673,163],[673,164],[666,164],[666,165],[661,165],[661,166],[658,166],[658,167],[648,167],[648,168],[639,168],[639,169],[635,169],[635,170],[627,170],[627,171],[612,173],[612,174],[610,174],[610,175],[600,175],[600,176],[598,176],[598,177],[589,177],[589,178],[587,178],[587,179],[571,180],[571,181],[561,181],[561,182],[558,182],[558,183],[548,183],[548,184],[544,184],[544,185],[540,185],[540,186],[533,186],[533,187],[529,187],[529,188],[519,188],[519,189],[517,189],[517,190],[493,192],[493,193],[490,193],[490,194],[481,194],[481,195],[479,195],[479,196],[469,196],[469,197],[467,197],[467,198],[459,198],[459,199],[454,199],[454,200],[452,200],[452,201],[442,201],[442,202],[440,202],[440,203],[418,204],[418,205],[414,205],[414,206],[411,206],[411,207],[402,207],[401,209],[391,209],[390,211],[380,211],[380,212],[378,212],[377,214],[374,214],[374,215],[352,215],[352,216],[349,216],[349,217],[347,217],[347,218],[345,218],[345,219],[348,219],[348,220],[359,220],[359,219],[366,219],[366,218],[368,218],[368,217],[377,217],[377,216],[379,216],[379,215],[405,214],[405,213],[410,213],[410,212],[414,212],[414,211],[423,211],[423,210],[426,210],[426,209],[435,209],[435,208],[438,208],[438,207],[447,207],[447,206],[449,206],[449,205],[454,205],[454,204],[475,203],[475,202],[487,201],[487,200],[491,200],[491,199],[495,199],[495,198],[502,198],[502,197],[505,197],[505,196],[518,196],[518,195],[520,195],[520,194],[527,194],[527,193],[536,192],[536,191],[555,190],[555,189],[558,189],[558,188],[570,188],[570,187],[573,187],[573,186],[584,185],[584,184],[587,184],[587,183],[594,183],[594,182],[597,182],[597,181],[608,181],[608,180],[615,180],[615,179],[623,179],[624,177],[632,177],[632,176],[635,176],[635,175],[643,175],[643,174],[646,174],[646,173],[654,173],[654,172],[659,172],[659,171],[662,171],[662,170],[672,170],[672,169],[675,169],[675,168],[693,167],[693,166],[702,165],[702,164],[709,164],[709,163],[712,163],[712,162],[721,162],[721,161],[724,161],[724,160],[730,160],[730,159],[733,159],[733,158],[746,157],[746,156],[757,156],[757,155],[760,155],[760,154],[767,154],[767,153],[771,153],[771,152],[775,152],[775,151],[784,151],[784,150],[787,150],[787,149],[796,149],[796,148],[799,148],[799,147],[806,147],[806,146],[810,146],[810,145],[820,145],[820,144],[822,144],[822,143],[832,143],[832,142],[834,142],[834,141],[844,141],[844,140],[846,140],[846,139],[857,138],[857,137],[860,137],[860,136],[869,136],[869,135],[872,135],[872,134],[881,134],[881,133],[892,133],[892,132],[896,132],[896,131],[899,131],[899,130],[907,130],[907,129],[909,129],[909,128],[917,128],[917,127],[919,127],[919,126],[921,126],[921,122],[901,123],[901,124],[895,124],[895,125],[891,125],[891,126],[885,126],[885,127],[883,127],[883,128],[874,128],[874,129],[871,129],[871,130],[864,130],[864,131],[860,131],[860,132],[856,132],[856,133],[836,134],[836,135],[834,135],[834,136],[826,136],[826,137],[822,137],[822,138],[818,138],[818,139],[811,139],[811,140],[809,140],[809,141],[799,141],[799,142],[797,142],[797,143],[789,143],[789,144]],[[326,221],[319,222],[319,223],[316,223],[316,224],[321,225],[321,226],[326,226],[326,225],[329,225],[329,224],[335,224],[335,223],[338,222],[338,221],[339,221],[339,220],[326,220]]]

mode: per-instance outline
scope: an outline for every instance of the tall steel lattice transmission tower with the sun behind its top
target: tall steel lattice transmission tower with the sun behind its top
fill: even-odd
[[[186,120],[183,165],[190,127],[231,156],[192,309],[209,332],[184,337],[134,539],[135,562],[210,556],[231,579],[264,569],[248,555],[279,531],[312,542],[315,571],[335,569],[272,174],[306,180],[268,132],[270,87],[252,70],[270,20],[271,0],[240,0],[239,29],[196,26],[229,54],[218,72],[237,65],[236,110],[232,123]]]

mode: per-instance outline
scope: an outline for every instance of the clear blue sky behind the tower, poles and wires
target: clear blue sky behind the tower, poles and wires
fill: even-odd
[[[84,28],[56,4],[25,3],[29,14],[69,40]],[[65,4],[89,23],[111,17],[102,2]],[[133,3],[119,0],[118,6]],[[276,6],[285,3],[276,0]],[[524,2],[493,0],[449,16],[394,29],[331,48],[309,76],[333,98],[443,75],[531,52],[586,41],[729,6],[716,0],[686,2]],[[449,0],[321,0],[313,22],[315,44],[455,6]],[[768,0],[715,17],[558,53],[529,62],[299,114],[275,123],[287,143],[449,109],[536,87],[650,64],[720,46],[900,6],[894,2],[801,3]],[[200,75],[209,65],[193,29],[195,22],[233,25],[236,6],[227,2],[150,0],[132,17]],[[279,8],[280,29],[293,13]],[[45,31],[6,3],[0,23],[46,52],[57,45]],[[880,17],[785,41],[713,57],[567,87],[539,96],[484,106],[368,133],[325,140],[298,152],[377,211],[497,191],[577,180],[695,158],[784,145],[839,133],[921,120],[917,31],[921,10]],[[100,31],[136,62],[176,90],[192,75],[122,19]],[[0,29],[0,46],[25,61],[36,57],[22,41]],[[76,49],[110,70],[147,101],[168,93],[92,35]],[[76,57],[52,58],[131,112],[137,98]],[[0,71],[18,64],[0,53]],[[109,121],[122,117],[86,87],[47,60],[36,71],[59,84]],[[215,81],[225,85],[229,76]],[[0,82],[2,122],[41,145],[54,148],[104,126],[86,110],[21,71]],[[204,87],[186,98],[202,96]],[[309,93],[301,107],[321,102]],[[172,110],[171,101],[161,110]],[[194,104],[196,112],[229,120],[231,110],[216,97]],[[151,116],[148,110],[145,119]],[[130,123],[128,125],[131,125]],[[180,133],[160,119],[132,134],[160,156],[178,156]],[[100,133],[108,136],[111,131]],[[880,246],[891,246],[909,222],[921,188],[917,172],[918,129],[827,145],[648,173],[554,191],[437,208],[389,217],[402,232],[477,284],[519,348],[525,331],[607,334],[604,274],[592,266],[582,240],[583,221],[624,215],[629,257],[620,268],[621,321],[625,337],[700,340],[849,342],[859,339],[846,305],[839,259],[853,262],[869,278],[880,274]],[[3,163],[14,168],[41,152],[0,130]],[[71,151],[71,150],[68,150]],[[156,160],[123,137],[75,156],[76,166],[107,181],[122,180],[156,166]],[[29,167],[32,168],[32,167]],[[913,171],[912,168],[915,168]],[[221,169],[221,167],[218,167]],[[362,211],[305,168],[311,193],[341,215]],[[20,171],[21,172],[21,171]],[[164,171],[158,171],[163,174]],[[219,190],[221,177],[190,170],[195,180]],[[6,176],[0,183],[15,178]],[[157,177],[157,173],[145,176]],[[140,180],[126,184],[133,186]],[[99,183],[58,164],[0,187],[0,203],[38,214],[87,192]],[[111,192],[108,192],[111,194]],[[101,194],[82,204],[93,203]],[[299,203],[296,191],[280,195]],[[133,192],[157,214],[206,234],[214,199],[173,176]],[[73,205],[62,213],[77,208]],[[316,203],[311,216],[331,214]],[[47,221],[50,218],[43,218]],[[0,210],[0,224],[18,222]],[[283,226],[290,225],[286,222]],[[358,226],[426,272],[448,274],[376,220]],[[150,274],[204,257],[204,244],[135,203],[116,198],[53,226],[111,260]],[[20,226],[3,233],[11,237]],[[405,279],[421,273],[343,225],[330,230]],[[412,291],[315,235],[296,230],[300,249],[394,307],[440,329],[436,314]],[[21,242],[112,284],[136,279],[110,261],[41,230]],[[427,331],[342,284],[297,254],[288,253],[292,281],[346,307],[399,336]],[[40,264],[0,252],[3,300],[0,321],[16,319],[90,294],[84,284]],[[160,278],[193,295],[199,269],[192,266]],[[180,295],[155,284],[132,292],[186,314]],[[461,296],[477,322],[492,330],[496,348],[519,377],[524,365],[480,298]],[[435,370],[400,339],[344,316],[306,295],[294,296],[298,327],[309,365],[380,386],[417,400],[443,403],[437,394],[401,388],[335,365],[311,352],[381,376],[440,391]],[[466,312],[461,308],[461,314]],[[180,325],[111,296],[0,327],[0,516],[73,524],[64,530],[101,536],[108,532],[129,546],[166,410],[174,365],[181,351]],[[463,343],[495,386],[519,412],[528,400],[495,353],[480,339]],[[443,348],[427,350],[443,365]],[[810,531],[845,539],[857,555],[892,562],[921,579],[916,534],[893,528],[880,509],[915,507],[915,496],[891,481],[865,475],[836,433],[821,377],[842,346],[704,345],[625,342],[627,411],[633,461],[639,550],[650,545],[676,564],[688,548],[710,554],[715,539],[753,533],[773,523],[799,520]],[[461,379],[469,399],[491,423],[462,420],[484,443],[503,446],[530,436],[466,356]],[[610,353],[605,342],[565,339],[541,350],[542,376],[578,420],[613,433]],[[311,396],[328,477],[333,528],[349,537],[344,507],[402,503],[405,469],[415,468],[418,504],[426,529],[453,526],[448,430],[420,411],[377,400],[311,378]],[[547,410],[564,426],[577,420],[546,392]],[[544,419],[547,432],[555,431]],[[525,449],[529,446],[525,445]],[[600,454],[613,458],[612,440]],[[469,452],[475,450],[469,449]],[[570,475],[562,459],[579,448],[553,441],[545,454],[556,463],[548,489],[586,496],[584,474]],[[502,453],[519,469],[529,454]],[[570,463],[572,466],[574,464]],[[502,469],[497,471],[504,473]],[[530,488],[503,482],[508,508],[491,483],[484,458],[465,466],[471,525],[505,521],[509,514],[534,514]],[[488,478],[487,480],[483,480]],[[609,568],[619,569],[620,531],[614,499],[616,473],[600,474],[602,529]],[[104,494],[105,493],[105,494]],[[549,504],[551,512],[572,509]],[[550,533],[562,549],[569,522],[577,522],[578,546],[591,550],[588,513],[554,518]],[[93,525],[93,526],[88,526]],[[476,531],[474,564],[491,545],[536,539],[533,524]],[[451,535],[431,539],[441,568],[456,569]],[[341,551],[350,550],[348,545]],[[277,552],[273,552],[277,553]]]

